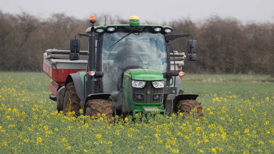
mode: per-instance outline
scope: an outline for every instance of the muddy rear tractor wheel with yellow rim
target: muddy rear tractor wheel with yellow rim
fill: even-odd
[[[79,116],[79,110],[81,109],[80,99],[76,93],[73,82],[70,82],[65,87],[65,96],[63,104],[63,114],[67,115],[68,112],[75,112],[75,115]]]

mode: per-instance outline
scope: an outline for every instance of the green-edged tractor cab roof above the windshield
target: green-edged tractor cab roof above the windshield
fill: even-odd
[[[95,26],[95,32],[96,32],[96,29],[104,29],[104,32],[107,31],[107,28],[108,27],[114,27],[116,30],[115,31],[126,31],[126,30],[130,30],[132,27],[134,26],[131,26],[131,25],[106,25],[106,26]],[[154,28],[161,28],[162,29],[162,32],[164,32],[165,29],[171,29],[173,31],[173,28],[170,27],[170,26],[162,26],[162,25],[139,25],[139,26],[136,26],[136,28],[143,28],[144,31],[153,31]],[[90,29],[91,27],[87,28],[86,29],[86,33],[90,33]]]

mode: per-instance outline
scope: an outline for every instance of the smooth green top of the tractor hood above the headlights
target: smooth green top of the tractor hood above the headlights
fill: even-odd
[[[163,74],[157,70],[150,69],[130,69],[124,72],[124,75],[129,76],[132,80],[163,80]]]

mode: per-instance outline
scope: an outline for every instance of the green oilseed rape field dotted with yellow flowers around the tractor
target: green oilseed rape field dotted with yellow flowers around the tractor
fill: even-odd
[[[266,75],[188,75],[204,115],[107,120],[63,116],[49,77],[0,72],[0,153],[274,153],[274,83]],[[72,113],[73,114],[73,113]]]

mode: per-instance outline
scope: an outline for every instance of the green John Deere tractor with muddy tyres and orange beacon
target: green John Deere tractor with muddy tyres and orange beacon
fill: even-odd
[[[170,71],[170,64],[175,64],[170,40],[191,36],[187,57],[197,60],[197,42],[191,34],[169,35],[173,31],[170,26],[140,25],[138,16],[131,16],[128,25],[94,26],[95,22],[92,15],[91,27],[86,33],[77,33],[70,42],[69,59],[81,60],[80,40],[76,36],[89,37],[87,65],[85,70],[66,76],[63,92],[58,93],[62,85],[56,86],[56,93],[50,98],[57,96],[59,111],[79,115],[83,109],[84,115],[104,113],[107,118],[136,118],[139,112],[146,115],[156,111],[170,116],[197,108],[196,116],[203,115],[201,103],[196,101],[198,95],[184,94],[181,88],[184,72],[175,68]]]

